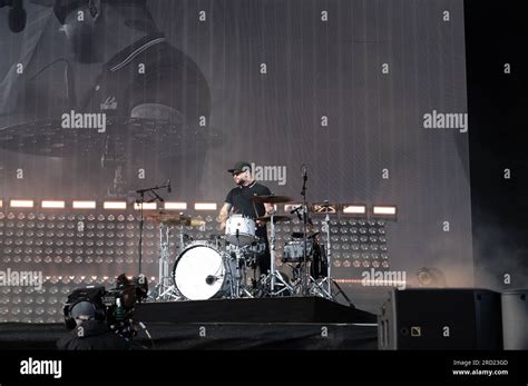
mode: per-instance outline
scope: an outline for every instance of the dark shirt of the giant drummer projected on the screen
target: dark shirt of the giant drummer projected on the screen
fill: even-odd
[[[139,73],[140,68],[145,73]],[[209,116],[211,93],[204,75],[163,33],[147,36],[110,59],[81,105],[87,111],[128,118],[141,103],[172,107],[192,128],[198,127],[198,117]]]

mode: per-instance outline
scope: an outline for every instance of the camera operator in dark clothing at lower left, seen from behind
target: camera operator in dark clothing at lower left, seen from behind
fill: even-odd
[[[96,307],[89,301],[79,301],[71,309],[77,326],[57,342],[60,350],[98,350],[138,348],[114,333],[106,321],[98,317]]]

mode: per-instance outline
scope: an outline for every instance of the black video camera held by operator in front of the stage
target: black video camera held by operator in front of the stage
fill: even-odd
[[[88,315],[90,318],[106,323],[111,330],[125,338],[134,337],[134,306],[147,297],[147,278],[139,275],[130,280],[121,274],[116,281],[116,287],[108,290],[104,286],[89,286],[75,289],[68,295],[63,307],[66,327],[74,329],[77,326],[75,307],[82,301],[89,303],[94,308],[91,315]]]

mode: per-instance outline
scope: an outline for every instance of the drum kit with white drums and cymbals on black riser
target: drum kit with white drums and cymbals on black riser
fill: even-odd
[[[291,202],[292,199],[271,195],[255,196],[253,201],[275,205]],[[306,209],[311,210],[310,207]],[[313,228],[307,211],[303,217],[309,227]],[[159,226],[160,246],[158,283],[150,291],[149,299],[158,301],[322,296],[334,300],[336,295],[342,294],[352,305],[330,275],[332,250],[330,214],[331,211],[326,210],[322,227],[322,231],[326,234],[325,245],[320,244],[319,231],[293,232],[292,239],[285,241],[282,261],[292,267],[291,278],[275,266],[277,241],[275,225],[291,221],[290,216],[271,212],[268,216],[250,218],[232,214],[226,220],[224,235],[212,235],[206,240],[193,240],[184,234],[184,229],[204,227],[205,221],[202,218],[165,212],[147,215],[146,220],[153,220]],[[255,236],[256,221],[270,224],[268,246],[266,240]],[[307,230],[307,227],[305,228]],[[170,269],[169,235],[174,229],[178,232],[179,254]],[[256,266],[262,258],[270,258],[271,265],[267,273],[258,275]],[[304,277],[307,280],[304,280]],[[339,289],[338,293],[335,288]]]

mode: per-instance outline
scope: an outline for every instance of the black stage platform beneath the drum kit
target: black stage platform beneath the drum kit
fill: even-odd
[[[135,342],[147,349],[378,348],[375,315],[316,297],[147,303]],[[0,349],[56,349],[63,324],[0,327]]]

